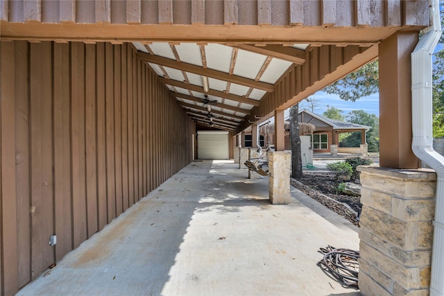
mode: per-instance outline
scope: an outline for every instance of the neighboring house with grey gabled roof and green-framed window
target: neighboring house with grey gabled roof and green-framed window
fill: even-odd
[[[370,126],[329,119],[308,110],[299,112],[298,121],[301,123],[311,123],[316,127],[311,140],[311,148],[313,148],[314,153],[366,155],[368,152],[366,132],[370,130]],[[344,132],[361,132],[361,145],[359,147],[339,147],[339,134]]]

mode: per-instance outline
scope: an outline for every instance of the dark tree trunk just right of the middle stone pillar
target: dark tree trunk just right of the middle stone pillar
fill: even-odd
[[[290,108],[290,147],[291,147],[291,177],[302,177],[302,156],[300,152],[300,135],[298,122],[299,104]]]

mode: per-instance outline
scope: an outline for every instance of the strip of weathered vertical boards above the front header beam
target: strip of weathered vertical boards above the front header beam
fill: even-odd
[[[427,1],[416,0],[1,0],[0,3],[0,20],[10,22],[345,27],[429,24]]]

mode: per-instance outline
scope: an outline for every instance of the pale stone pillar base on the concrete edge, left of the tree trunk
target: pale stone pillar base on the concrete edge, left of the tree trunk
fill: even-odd
[[[268,152],[268,196],[272,204],[290,203],[291,152]]]

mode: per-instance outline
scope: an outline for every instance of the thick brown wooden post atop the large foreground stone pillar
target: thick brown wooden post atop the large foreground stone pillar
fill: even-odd
[[[411,150],[411,59],[418,33],[395,33],[379,44],[379,165],[419,168]]]

